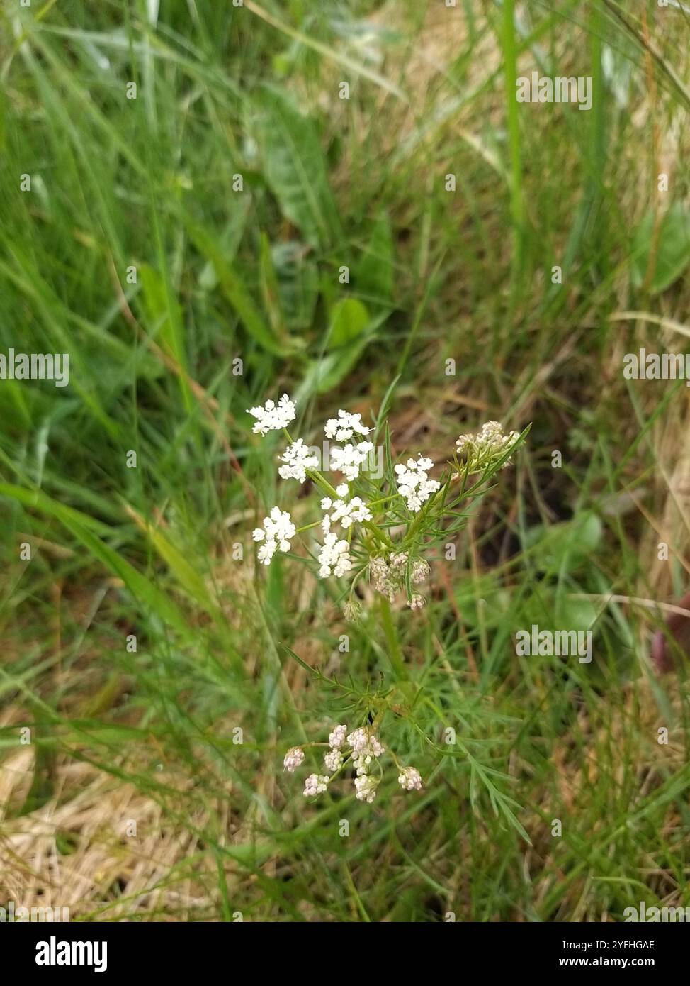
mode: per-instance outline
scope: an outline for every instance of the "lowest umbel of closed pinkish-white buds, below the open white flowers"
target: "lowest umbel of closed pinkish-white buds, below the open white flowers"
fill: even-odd
[[[310,774],[304,783],[304,797],[313,798],[323,794],[328,785],[348,759],[354,768],[354,790],[358,801],[370,805],[376,798],[379,784],[383,776],[381,769],[377,775],[371,773],[374,761],[385,752],[380,740],[368,727],[360,726],[347,735],[345,725],[335,726],[328,738],[329,750],[324,755],[324,765],[329,774]],[[322,744],[317,744],[322,745]],[[293,746],[285,753],[283,760],[285,770],[292,773],[304,761],[304,751],[300,746]],[[416,767],[404,767],[398,777],[398,783],[404,791],[421,791],[421,775]]]

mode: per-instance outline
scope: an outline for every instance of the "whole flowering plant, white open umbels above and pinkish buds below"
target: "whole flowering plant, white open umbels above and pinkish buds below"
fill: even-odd
[[[386,398],[388,399],[388,397]],[[308,535],[307,550],[318,561],[318,575],[322,579],[347,577],[345,587],[331,586],[319,598],[329,607],[331,600],[342,600],[345,619],[356,621],[357,629],[371,635],[376,627],[370,625],[372,616],[380,614],[381,644],[377,642],[377,656],[388,659],[390,671],[381,687],[372,687],[367,680],[364,688],[355,681],[341,685],[333,679],[333,687],[341,688],[348,696],[348,707],[366,712],[366,724],[351,732],[344,724],[334,726],[328,743],[307,743],[322,749],[324,773],[310,774],[304,785],[304,796],[312,798],[328,790],[332,781],[341,774],[354,784],[353,794],[358,801],[370,805],[382,790],[383,763],[391,757],[397,768],[398,785],[405,792],[421,791],[421,774],[416,767],[403,766],[392,751],[387,751],[377,736],[381,721],[389,710],[397,716],[410,717],[414,694],[420,678],[420,663],[406,664],[396,628],[397,614],[391,603],[407,601],[412,611],[426,605],[426,599],[418,587],[430,575],[427,561],[434,544],[445,542],[446,557],[449,545],[467,526],[471,516],[469,506],[482,497],[489,488],[487,483],[522,440],[517,432],[503,433],[496,421],[487,421],[476,435],[462,435],[457,442],[457,455],[464,458],[447,462],[438,479],[429,477],[434,462],[421,453],[416,457],[395,462],[391,449],[391,430],[379,413],[376,435],[384,436],[383,448],[378,449],[376,462],[381,468],[367,466],[373,443],[366,436],[372,431],[364,425],[360,414],[343,409],[338,417],[329,418],[324,432],[326,438],[344,443],[330,450],[324,472],[342,473],[335,478],[321,471],[319,456],[314,455],[304,439],[293,439],[287,424],[295,417],[294,402],[283,394],[278,404],[268,400],[265,405],[253,407],[249,412],[256,419],[253,430],[262,435],[282,429],[287,442],[279,456],[279,475],[282,479],[296,479],[300,485],[309,483],[318,490],[316,502],[308,496],[300,496],[295,510],[312,511],[320,504],[319,519],[307,517],[295,527],[289,513],[273,507],[264,518],[263,527],[253,531],[254,540],[260,542],[258,559],[268,565],[277,551],[290,550],[290,542],[296,534],[313,531]],[[478,480],[469,476],[479,473]],[[345,481],[344,481],[345,477]],[[308,492],[308,489],[307,489]],[[340,526],[340,528],[339,528]],[[316,528],[316,530],[314,530]],[[320,528],[320,531],[318,530]],[[316,542],[317,533],[321,543]],[[453,554],[452,557],[455,557]],[[376,592],[384,599],[369,607],[372,593],[366,585],[368,579]],[[366,611],[366,610],[369,611]],[[347,651],[348,648],[345,648]],[[293,653],[293,657],[297,657]],[[301,663],[301,659],[297,658]],[[328,672],[329,666],[326,666]],[[327,673],[318,671],[320,679],[328,680]],[[350,702],[350,699],[352,701]],[[283,759],[284,769],[293,773],[305,760],[303,746],[293,746]],[[394,786],[395,787],[395,786]]]

